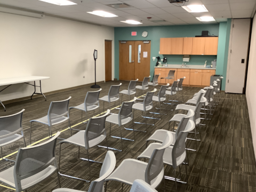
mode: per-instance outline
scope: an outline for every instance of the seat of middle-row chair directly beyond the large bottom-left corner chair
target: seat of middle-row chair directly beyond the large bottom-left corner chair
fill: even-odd
[[[60,141],[60,143],[65,142],[65,143],[72,143],[77,146],[85,147],[85,142],[84,142],[84,131],[79,131],[78,133],[74,134],[68,139],[65,139],[63,141]],[[89,134],[94,134],[92,132],[89,132]],[[89,148],[98,145],[101,141],[103,141],[106,138],[106,135],[102,134],[100,137],[92,139],[89,141]]]

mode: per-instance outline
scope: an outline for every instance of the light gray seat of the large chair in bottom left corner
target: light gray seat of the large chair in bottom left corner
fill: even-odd
[[[44,164],[43,162],[39,162],[36,159],[31,159],[31,158],[26,158],[23,159],[23,162],[26,164],[29,164],[30,167],[34,165],[35,169],[36,166],[38,166],[37,164]],[[22,164],[22,162],[21,162]],[[0,181],[6,183],[7,185],[15,188],[15,183],[14,183],[14,177],[13,177],[13,170],[14,170],[14,166],[10,167],[7,170],[4,170],[0,173]],[[45,178],[49,177],[49,175],[51,175],[54,171],[56,171],[57,168],[55,166],[50,165],[49,167],[47,167],[46,169],[44,169],[43,171],[29,177],[26,179],[21,180],[21,186],[22,189],[27,189],[33,185],[35,185],[38,182],[41,182],[42,180],[44,180]]]

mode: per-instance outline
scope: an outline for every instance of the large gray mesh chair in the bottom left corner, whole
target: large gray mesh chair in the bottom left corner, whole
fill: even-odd
[[[17,192],[21,192],[33,187],[55,172],[60,185],[55,158],[55,146],[59,134],[60,132],[42,144],[19,148],[15,165],[0,173],[0,181],[15,188]]]

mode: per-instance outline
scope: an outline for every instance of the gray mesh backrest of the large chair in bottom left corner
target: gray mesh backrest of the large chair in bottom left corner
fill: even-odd
[[[53,163],[57,169],[55,147],[59,135],[60,132],[57,132],[52,139],[42,144],[28,148],[19,148],[13,170],[16,191],[20,192],[25,189],[25,185],[29,185],[27,182],[23,183],[23,179],[47,169]],[[32,183],[35,180],[30,180],[29,182]]]

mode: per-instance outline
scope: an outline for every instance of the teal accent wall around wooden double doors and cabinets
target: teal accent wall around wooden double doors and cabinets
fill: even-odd
[[[159,56],[161,59],[167,58],[168,64],[182,64],[183,55],[162,55],[159,54],[160,38],[164,37],[195,37],[201,35],[202,30],[208,30],[211,35],[221,36],[218,45],[218,59],[215,55],[190,55],[187,65],[210,65],[211,61],[217,59],[217,72],[218,75],[223,75],[225,69],[226,59],[226,44],[227,40],[227,22],[220,24],[205,24],[205,25],[179,25],[179,26],[150,26],[150,27],[116,27],[115,28],[115,78],[119,79],[119,41],[151,41],[151,59],[150,59],[150,75],[153,77],[156,60],[153,61],[152,57]],[[137,31],[137,36],[131,36],[132,31]],[[148,36],[143,38],[141,36],[143,31],[148,32]],[[230,31],[230,29],[229,29]],[[225,43],[223,43],[225,42]],[[220,61],[219,61],[220,60]],[[226,63],[227,66],[227,63]],[[226,74],[225,74],[226,75]],[[223,85],[223,83],[222,83]],[[222,86],[223,87],[223,86]]]

